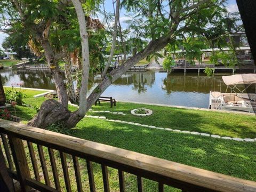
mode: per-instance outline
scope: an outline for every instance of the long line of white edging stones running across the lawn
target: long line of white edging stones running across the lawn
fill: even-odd
[[[107,119],[105,116],[92,116],[92,115],[85,115],[85,117],[88,118],[100,118],[100,119],[105,119],[106,121],[109,122],[116,122],[116,123],[125,123],[125,124],[130,124],[130,125],[137,125],[137,126],[143,126],[143,127],[148,127],[151,129],[160,129],[160,130],[166,130],[166,131],[173,131],[173,132],[179,132],[179,133],[186,133],[186,134],[193,134],[193,135],[201,135],[204,137],[212,137],[212,138],[217,138],[217,139],[225,139],[225,140],[234,140],[234,141],[246,141],[246,142],[256,142],[255,139],[250,139],[250,138],[231,138],[231,137],[221,137],[220,135],[215,135],[215,134],[208,134],[208,133],[199,133],[195,131],[181,131],[181,130],[173,130],[170,128],[163,128],[163,127],[156,127],[153,125],[145,125],[145,124],[140,124],[140,123],[134,123],[134,122],[126,122],[126,121],[120,121],[120,120],[114,120],[114,119]]]

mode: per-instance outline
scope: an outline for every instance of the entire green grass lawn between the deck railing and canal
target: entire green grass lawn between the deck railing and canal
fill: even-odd
[[[44,100],[44,98],[31,97],[24,99],[26,103],[32,106],[41,105]],[[130,115],[131,109],[139,107],[152,109],[154,111],[153,115],[148,117]],[[69,108],[71,110],[76,109],[74,107]],[[102,103],[100,106],[93,106],[92,109],[116,112],[122,111],[126,116],[107,113],[96,114],[93,112],[88,113],[88,115],[106,116],[109,119],[120,119],[165,128],[169,127],[171,129],[227,135],[229,137],[256,138],[256,117],[254,116],[121,102],[117,102],[117,106],[113,108],[110,108],[109,103]],[[17,116],[22,117],[24,121],[28,121],[35,114],[36,111],[32,107],[17,106]],[[94,118],[82,119],[82,121],[71,130],[70,134],[78,138],[136,151],[237,178],[256,181],[256,142],[215,139],[200,135],[175,133],[129,124],[113,123]],[[47,153],[45,156],[47,166],[49,166],[49,170],[51,170]],[[70,178],[72,182],[75,183],[72,176],[74,175],[74,169],[71,166],[71,158],[68,158],[68,162],[70,162]],[[61,166],[60,161],[57,161],[57,164]],[[85,167],[83,160],[81,160],[81,166],[82,168]],[[94,165],[94,167],[94,177],[98,185],[97,189],[102,191],[103,186],[100,166]],[[61,170],[61,168],[58,170]],[[82,178],[87,182],[86,174],[86,171],[82,172]],[[118,187],[116,170],[110,169],[110,177],[110,186],[112,186],[113,191],[115,191]],[[131,186],[135,183],[135,179],[132,179],[131,175],[127,177],[131,177],[129,179],[129,182],[131,182],[130,189],[127,191],[134,191]],[[63,177],[60,176],[60,180],[64,186]],[[147,181],[145,182],[148,183]],[[84,185],[87,186],[87,184]],[[148,183],[148,185],[151,186],[151,183]],[[75,190],[75,186],[73,187]],[[155,191],[155,188],[153,188],[154,187],[150,187],[151,191]],[[166,191],[176,190],[170,189]]]

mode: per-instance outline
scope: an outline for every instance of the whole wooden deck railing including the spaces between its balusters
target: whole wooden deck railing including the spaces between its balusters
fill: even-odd
[[[72,188],[73,191],[101,191],[98,183],[105,192],[110,189],[126,191],[127,188],[130,191],[164,191],[169,186],[183,191],[256,191],[253,181],[5,120],[0,120],[0,133],[0,152],[4,152],[0,165],[5,159],[8,165],[5,169],[11,178],[20,182],[22,191],[71,191]],[[95,163],[100,167],[101,179],[99,174],[94,178]],[[0,173],[3,171],[1,167]],[[70,175],[71,171],[75,174]],[[61,176],[60,172],[63,172]],[[81,177],[82,173],[86,173],[87,179],[84,179],[85,174]],[[115,189],[110,186],[114,173],[117,175]],[[136,189],[131,189],[128,174],[133,176]],[[60,182],[61,179],[65,182]],[[89,182],[87,188],[84,182]],[[151,182],[156,184],[155,188],[148,190],[143,186]]]

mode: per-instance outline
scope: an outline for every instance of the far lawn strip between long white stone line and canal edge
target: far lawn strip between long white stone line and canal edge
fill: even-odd
[[[101,106],[93,106],[92,108],[94,110],[122,111],[126,115],[92,112],[88,114],[106,116],[108,119],[154,125],[157,127],[219,134],[229,137],[256,138],[256,118],[254,116],[171,107],[145,106],[134,103],[119,103],[117,107],[110,108],[107,104],[108,103],[103,103]],[[130,114],[132,109],[140,107],[147,107],[153,110],[153,115],[138,117]]]

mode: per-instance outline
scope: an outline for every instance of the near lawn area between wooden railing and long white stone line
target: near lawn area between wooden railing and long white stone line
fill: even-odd
[[[74,136],[169,161],[256,181],[256,143],[86,119]]]

